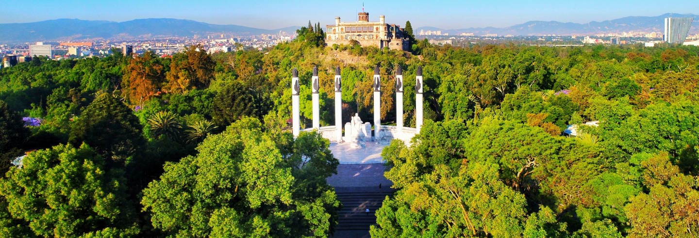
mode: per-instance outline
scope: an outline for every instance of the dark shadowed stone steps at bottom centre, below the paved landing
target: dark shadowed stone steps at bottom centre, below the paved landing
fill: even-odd
[[[336,187],[338,200],[343,209],[338,212],[338,225],[334,237],[369,237],[369,226],[376,224],[376,209],[381,207],[386,196],[395,190],[386,186]],[[366,213],[369,209],[369,213]]]

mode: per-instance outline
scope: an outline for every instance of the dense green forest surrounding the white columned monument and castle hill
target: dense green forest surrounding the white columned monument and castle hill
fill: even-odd
[[[318,134],[291,135],[291,69],[310,126],[313,66],[329,125],[333,68],[343,114],[369,118],[376,65],[389,124],[396,68],[407,89],[423,68],[426,122],[382,152],[397,192],[372,236],[699,236],[698,47],[403,52],[324,46],[315,28],[262,51],[2,68],[0,236],[329,236],[338,160]],[[415,92],[404,97],[415,124]]]

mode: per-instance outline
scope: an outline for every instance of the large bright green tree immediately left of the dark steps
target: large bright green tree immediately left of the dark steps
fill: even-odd
[[[143,190],[153,226],[188,237],[329,235],[335,194],[295,194],[303,179],[261,129],[257,119],[240,119],[206,138],[196,156],[168,163]]]

